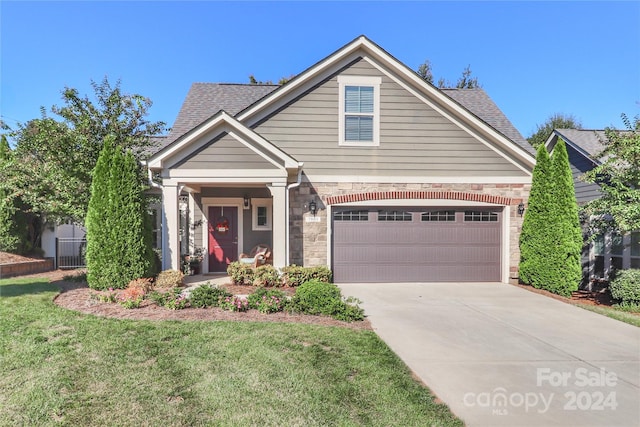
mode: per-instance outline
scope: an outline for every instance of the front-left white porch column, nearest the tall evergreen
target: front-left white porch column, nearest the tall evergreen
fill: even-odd
[[[162,187],[162,269],[180,270],[178,187]]]

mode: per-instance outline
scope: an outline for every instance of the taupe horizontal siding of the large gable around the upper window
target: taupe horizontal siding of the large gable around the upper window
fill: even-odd
[[[427,106],[365,60],[339,74],[381,76],[380,146],[338,145],[334,75],[255,130],[304,162],[305,172],[369,176],[523,176],[519,168]]]

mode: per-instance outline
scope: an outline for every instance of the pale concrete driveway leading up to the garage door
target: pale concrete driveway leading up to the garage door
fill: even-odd
[[[340,288],[468,426],[640,426],[640,328],[499,283]]]

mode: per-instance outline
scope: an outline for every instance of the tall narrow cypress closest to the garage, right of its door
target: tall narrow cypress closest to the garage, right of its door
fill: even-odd
[[[553,241],[549,228],[552,187],[551,159],[543,144],[538,147],[531,193],[520,234],[520,280],[536,288],[543,288],[549,280],[547,256]]]

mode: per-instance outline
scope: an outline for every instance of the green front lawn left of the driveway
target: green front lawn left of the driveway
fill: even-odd
[[[370,331],[125,321],[0,280],[0,425],[460,426]]]

